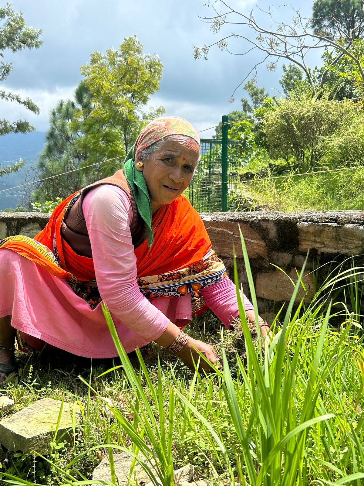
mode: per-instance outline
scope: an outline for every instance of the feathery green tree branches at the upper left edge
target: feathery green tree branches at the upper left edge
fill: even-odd
[[[9,49],[12,52],[21,51],[22,49],[38,49],[42,45],[39,40],[41,30],[27,27],[23,14],[15,12],[9,3],[0,7],[0,57],[3,58],[3,52]],[[4,81],[9,73],[13,70],[12,63],[0,62],[0,81]],[[25,106],[28,110],[38,114],[39,108],[29,98],[21,98],[17,93],[0,89],[0,100],[13,101]],[[26,133],[34,130],[31,123],[25,120],[10,122],[0,120],[0,135],[6,133]]]

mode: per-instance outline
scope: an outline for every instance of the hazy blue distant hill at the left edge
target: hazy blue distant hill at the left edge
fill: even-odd
[[[45,132],[9,133],[0,136],[1,168],[14,163],[21,157],[24,167],[18,172],[0,177],[0,191],[19,186],[34,175],[34,165],[39,152],[43,149],[46,138]],[[0,209],[16,208],[28,199],[32,186],[25,186],[12,191],[0,192]]]

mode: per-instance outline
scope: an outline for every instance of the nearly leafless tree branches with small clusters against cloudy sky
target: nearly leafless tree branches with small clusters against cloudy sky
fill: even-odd
[[[349,47],[353,41],[353,34],[364,30],[363,18],[358,18],[357,23],[354,25],[354,27],[349,31],[346,31],[345,25],[338,18],[320,17],[322,20],[325,20],[329,26],[333,26],[333,29],[331,30],[334,30],[334,32],[336,32],[337,34],[337,38],[335,38],[334,36],[329,36],[327,32],[321,32],[317,29],[313,30],[312,26],[314,25],[314,18],[302,17],[299,10],[293,7],[292,9],[294,11],[294,16],[292,18],[291,24],[285,22],[276,22],[273,18],[273,14],[277,12],[279,8],[281,8],[281,6],[278,6],[273,10],[269,8],[268,11],[264,11],[257,7],[260,12],[266,14],[266,16],[268,17],[270,27],[265,28],[264,25],[258,23],[253,15],[253,10],[250,10],[249,13],[246,15],[233,9],[230,5],[228,5],[225,0],[218,1],[221,5],[223,5],[224,13],[218,12],[214,4],[214,16],[199,16],[201,20],[211,24],[211,31],[214,34],[218,34],[224,26],[234,26],[234,29],[236,29],[237,26],[240,26],[241,28],[248,27],[248,29],[253,31],[254,38],[252,36],[250,38],[248,34],[242,34],[239,31],[231,32],[230,35],[223,36],[218,41],[210,45],[204,45],[202,48],[194,46],[195,58],[203,57],[206,59],[210,48],[216,45],[221,50],[226,50],[227,52],[234,55],[246,55],[248,52],[251,52],[254,49],[258,49],[265,54],[265,58],[263,61],[257,62],[250,70],[249,74],[254,69],[256,70],[257,66],[259,66],[269,58],[274,59],[274,61],[270,64],[271,67],[273,67],[277,63],[278,59],[286,59],[296,64],[304,71],[308,83],[313,89],[313,93],[316,94],[311,70],[308,68],[305,61],[307,54],[311,50],[316,49],[327,49],[329,52],[334,52],[336,50],[339,51],[339,54],[334,56],[334,58],[331,60],[329,67],[336,64],[344,55],[347,55],[358,66],[359,73],[364,82],[364,69],[361,65],[360,58],[349,51]],[[364,0],[362,1],[364,4]],[[242,39],[244,43],[250,44],[251,47],[241,53],[232,52],[232,50],[228,49],[228,41],[232,38]],[[319,85],[320,87],[322,87],[325,82],[328,69],[326,69],[322,73],[321,82]],[[245,78],[239,84],[239,86],[241,86],[241,84],[246,79],[247,78]],[[236,89],[238,87],[235,88],[234,93],[236,92]]]

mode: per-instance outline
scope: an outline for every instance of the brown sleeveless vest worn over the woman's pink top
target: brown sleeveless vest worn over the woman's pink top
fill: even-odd
[[[90,238],[88,236],[86,222],[82,212],[83,198],[88,191],[94,187],[100,186],[101,184],[111,184],[112,186],[117,186],[128,196],[132,204],[132,224],[130,226],[130,230],[132,233],[132,243],[134,247],[136,248],[139,246],[146,238],[144,221],[140,217],[136,207],[135,200],[132,195],[132,188],[129,186],[125,178],[124,171],[120,170],[110,177],[105,177],[105,179],[101,179],[85,187],[81,192],[81,196],[77,199],[72,208],[67,211],[62,222],[62,238],[65,239],[66,243],[69,244],[77,255],[82,257],[92,258]]]

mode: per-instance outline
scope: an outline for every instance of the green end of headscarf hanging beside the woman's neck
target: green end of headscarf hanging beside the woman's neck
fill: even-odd
[[[130,187],[132,188],[132,195],[134,196],[136,207],[146,225],[148,248],[151,247],[154,241],[153,226],[151,222],[151,203],[147,184],[144,179],[143,172],[137,171],[135,168],[133,156],[134,147],[132,147],[124,160],[124,174]]]

